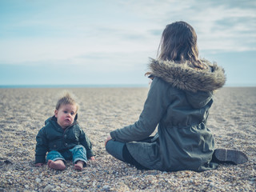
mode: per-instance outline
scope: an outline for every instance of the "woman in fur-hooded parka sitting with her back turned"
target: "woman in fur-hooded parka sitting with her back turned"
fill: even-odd
[[[150,61],[153,79],[138,122],[107,136],[106,150],[138,169],[215,169],[215,162],[247,161],[238,150],[215,150],[206,126],[214,90],[226,82],[222,67],[198,58],[197,35],[186,22],[166,26],[158,60]],[[158,134],[149,138],[158,126]]]

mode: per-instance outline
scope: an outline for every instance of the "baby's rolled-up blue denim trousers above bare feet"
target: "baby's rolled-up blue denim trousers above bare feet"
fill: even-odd
[[[70,150],[65,150],[63,152],[58,152],[57,150],[51,150],[47,156],[46,156],[46,161],[48,162],[49,160],[52,161],[57,161],[57,160],[62,160],[66,162],[66,160],[72,160],[73,163],[82,161],[85,162],[84,166],[86,166],[87,162],[87,157],[86,157],[86,149],[84,146],[77,145],[74,146]]]

